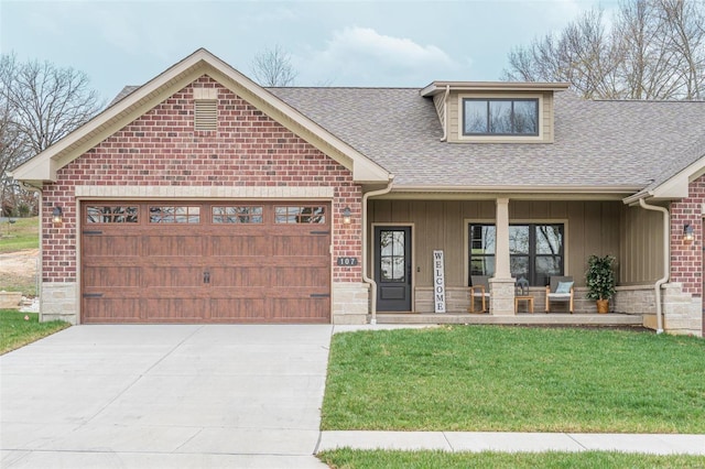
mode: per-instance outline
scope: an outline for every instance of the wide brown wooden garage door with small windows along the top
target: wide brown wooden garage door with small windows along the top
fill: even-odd
[[[83,323],[329,323],[321,203],[82,206]]]

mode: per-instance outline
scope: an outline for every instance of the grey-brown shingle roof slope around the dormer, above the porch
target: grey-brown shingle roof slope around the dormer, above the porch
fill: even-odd
[[[705,137],[704,101],[592,101],[565,91],[555,95],[554,143],[448,143],[416,88],[269,90],[393,173],[397,187],[638,192],[705,152],[696,144]]]

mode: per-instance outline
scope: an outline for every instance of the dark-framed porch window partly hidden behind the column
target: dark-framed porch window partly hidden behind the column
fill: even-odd
[[[495,226],[471,223],[469,228],[469,275],[491,276],[495,274]],[[547,285],[550,276],[563,275],[563,225],[510,225],[511,275],[523,276],[530,285]]]

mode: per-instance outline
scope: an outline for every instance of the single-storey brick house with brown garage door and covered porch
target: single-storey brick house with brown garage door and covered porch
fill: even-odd
[[[482,317],[529,316],[518,276],[543,310],[572,275],[589,318],[595,253],[619,262],[612,313],[699,336],[703,122],[567,84],[265,89],[198,50],[13,175],[41,193],[44,320],[413,320],[434,251],[459,320],[474,274]]]

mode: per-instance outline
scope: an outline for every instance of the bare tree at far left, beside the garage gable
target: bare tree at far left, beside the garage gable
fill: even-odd
[[[0,178],[2,209],[32,200],[8,172],[93,118],[100,107],[88,77],[50,62],[0,56]]]

